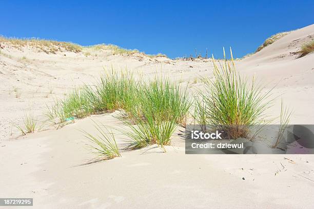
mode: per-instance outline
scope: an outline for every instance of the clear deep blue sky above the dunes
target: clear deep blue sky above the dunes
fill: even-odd
[[[174,58],[235,57],[270,35],[314,24],[314,1],[2,1],[0,34],[115,44]]]

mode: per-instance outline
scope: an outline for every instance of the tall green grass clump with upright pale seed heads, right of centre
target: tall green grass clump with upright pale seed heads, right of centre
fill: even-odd
[[[225,137],[247,138],[249,128],[254,124],[267,122],[265,111],[271,107],[271,90],[263,92],[257,85],[244,78],[235,69],[232,51],[231,62],[226,60],[219,66],[212,57],[214,78],[203,78],[205,91],[195,107],[196,120],[221,130]],[[225,57],[225,52],[224,52]]]

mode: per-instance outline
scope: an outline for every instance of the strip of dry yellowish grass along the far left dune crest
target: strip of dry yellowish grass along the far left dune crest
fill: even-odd
[[[0,43],[11,44],[13,47],[21,48],[31,46],[46,53],[55,54],[61,49],[69,52],[81,52],[82,46],[65,41],[46,40],[40,38],[7,38],[0,36]]]

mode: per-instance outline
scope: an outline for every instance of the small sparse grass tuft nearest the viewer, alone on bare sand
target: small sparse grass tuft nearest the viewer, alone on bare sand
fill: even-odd
[[[102,123],[94,123],[94,128],[97,130],[98,134],[93,135],[86,131],[84,137],[88,139],[90,144],[88,147],[91,152],[96,154],[97,157],[104,159],[112,159],[114,157],[121,157],[119,148],[117,147],[114,135],[110,132]]]

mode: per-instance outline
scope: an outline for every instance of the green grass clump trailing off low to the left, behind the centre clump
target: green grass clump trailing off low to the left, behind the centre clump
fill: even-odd
[[[45,116],[50,124],[58,128],[74,118],[115,110],[122,110],[129,117],[138,98],[138,85],[132,74],[126,71],[118,73],[111,68],[96,85],[74,88],[64,99],[47,106]]]

